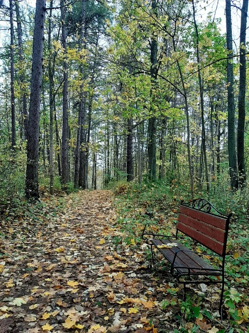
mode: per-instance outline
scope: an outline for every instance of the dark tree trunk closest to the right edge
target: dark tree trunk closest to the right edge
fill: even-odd
[[[246,20],[248,0],[243,0],[240,20],[239,39],[239,99],[238,99],[238,125],[237,125],[237,161],[239,171],[239,185],[245,186],[246,164],[244,155],[245,131],[245,94],[246,94]]]

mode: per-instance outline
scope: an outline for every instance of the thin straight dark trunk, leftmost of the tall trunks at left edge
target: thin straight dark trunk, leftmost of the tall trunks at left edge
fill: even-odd
[[[11,94],[11,148],[16,145],[15,94],[14,94],[14,27],[13,0],[10,0],[10,94]]]

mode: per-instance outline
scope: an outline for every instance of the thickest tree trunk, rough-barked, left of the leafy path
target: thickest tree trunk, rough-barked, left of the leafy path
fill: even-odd
[[[39,119],[41,103],[42,52],[45,22],[45,0],[36,1],[36,14],[32,52],[32,74],[29,107],[29,128],[27,136],[27,198],[39,198],[38,158],[39,158]]]

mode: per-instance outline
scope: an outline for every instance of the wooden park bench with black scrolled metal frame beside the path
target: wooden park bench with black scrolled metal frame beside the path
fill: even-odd
[[[231,215],[231,213],[228,216],[222,214],[214,208],[210,202],[202,198],[187,203],[181,201],[177,226],[176,228],[173,228],[176,230],[174,236],[145,232],[146,225],[144,226],[142,233],[143,239],[145,239],[145,235],[152,236],[146,238],[146,243],[151,247],[153,265],[155,264],[153,254],[154,246],[171,264],[170,274],[175,277],[179,283],[183,283],[184,299],[186,299],[186,284],[221,284],[219,304],[221,320],[225,283],[224,265],[226,243]],[[207,255],[207,253],[191,251],[184,246],[177,239],[179,231],[211,250],[212,253],[208,253],[208,256],[220,257],[222,262],[221,267],[214,268],[210,263],[204,260],[202,256]],[[208,278],[211,276],[216,276],[217,279]]]

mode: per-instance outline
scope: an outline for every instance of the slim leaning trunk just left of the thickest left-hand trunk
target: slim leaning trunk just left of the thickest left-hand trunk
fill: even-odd
[[[24,66],[24,58],[23,58],[23,39],[22,39],[22,27],[21,27],[21,16],[19,10],[18,0],[15,1],[16,4],[16,18],[17,18],[17,36],[18,36],[18,54],[19,61],[21,65],[21,73],[19,75],[19,80],[21,83],[21,101],[22,101],[22,119],[23,119],[23,128],[24,128],[24,140],[27,139],[28,133],[28,111],[27,111],[27,91],[24,85],[24,75],[22,73]]]

